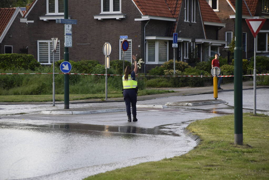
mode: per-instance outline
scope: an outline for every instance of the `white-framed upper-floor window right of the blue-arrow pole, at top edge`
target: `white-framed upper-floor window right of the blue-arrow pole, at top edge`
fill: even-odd
[[[101,0],[101,13],[121,13],[121,0]]]

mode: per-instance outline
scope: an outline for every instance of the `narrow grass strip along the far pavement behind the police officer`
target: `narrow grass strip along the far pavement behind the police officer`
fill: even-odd
[[[138,96],[143,95],[153,95],[153,94],[164,94],[164,93],[171,93],[175,91],[167,91],[167,90],[149,90],[143,89],[138,91]],[[108,98],[121,98],[122,93],[119,91],[112,91],[108,92]],[[69,100],[83,100],[83,99],[104,99],[105,94],[70,94]],[[6,95],[0,96],[0,102],[48,102],[52,101],[52,94],[51,95]],[[63,94],[55,94],[55,101],[64,101]]]

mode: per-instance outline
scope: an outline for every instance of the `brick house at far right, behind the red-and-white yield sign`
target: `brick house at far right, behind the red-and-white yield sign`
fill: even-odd
[[[235,36],[235,0],[207,0],[226,27],[219,31],[219,39],[227,41],[227,49]],[[254,37],[247,26],[245,19],[269,19],[269,0],[242,1],[242,58],[247,59],[254,55]],[[269,22],[264,23],[257,35],[257,54],[269,53]]]

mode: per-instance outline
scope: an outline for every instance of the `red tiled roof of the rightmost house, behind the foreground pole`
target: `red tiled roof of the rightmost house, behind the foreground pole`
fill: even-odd
[[[236,0],[228,0],[228,1],[231,3],[233,8],[235,9],[235,1]],[[257,8],[258,0],[245,0],[245,1],[247,3],[249,10],[247,9],[247,6],[246,6],[244,0],[242,0],[242,15],[250,16],[250,13],[251,13],[252,16],[254,16],[256,8]]]

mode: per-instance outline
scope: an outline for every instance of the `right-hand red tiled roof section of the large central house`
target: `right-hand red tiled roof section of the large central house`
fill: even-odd
[[[203,21],[222,23],[220,18],[213,11],[213,9],[206,2],[206,0],[199,0],[199,3],[200,3],[200,9],[201,9],[201,15],[202,15]]]

